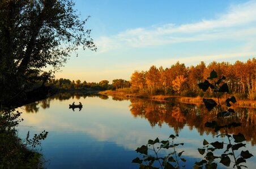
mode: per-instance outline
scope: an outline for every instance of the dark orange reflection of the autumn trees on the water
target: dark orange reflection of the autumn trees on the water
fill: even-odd
[[[147,119],[151,126],[167,123],[177,133],[186,125],[190,130],[197,130],[200,135],[216,135],[212,128],[204,127],[207,121],[217,121],[220,125],[231,122],[242,123],[241,127],[229,128],[229,133],[243,134],[252,145],[256,144],[255,109],[237,108],[236,113],[224,119],[217,119],[214,112],[208,112],[204,105],[159,102],[146,99],[131,99],[130,111],[134,117]],[[224,131],[221,131],[223,133]]]

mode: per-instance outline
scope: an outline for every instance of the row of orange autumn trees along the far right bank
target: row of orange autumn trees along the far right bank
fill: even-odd
[[[240,99],[256,99],[256,59],[246,62],[236,61],[212,63],[206,65],[203,61],[196,66],[186,67],[177,62],[170,68],[156,68],[151,66],[147,71],[138,71],[131,75],[130,83],[132,92],[149,95],[180,95],[202,96],[198,83],[207,79],[212,70],[218,75],[225,76],[229,92]],[[208,96],[215,96],[213,90],[207,91]]]

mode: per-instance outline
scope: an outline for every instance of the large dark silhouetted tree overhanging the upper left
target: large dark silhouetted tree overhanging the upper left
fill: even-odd
[[[57,69],[78,47],[96,50],[72,0],[0,0],[0,20],[0,92],[8,96],[28,70]]]

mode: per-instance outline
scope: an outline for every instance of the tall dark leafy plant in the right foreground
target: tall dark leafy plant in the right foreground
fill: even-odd
[[[226,79],[224,76],[217,79],[217,73],[212,70],[210,73],[210,77],[207,78],[202,83],[199,83],[198,86],[201,88],[203,91],[208,90],[208,88],[211,88],[214,92],[217,94],[217,101],[213,99],[203,99],[204,105],[208,109],[208,111],[211,111],[212,109],[217,109],[217,118],[224,118],[229,117],[232,113],[234,113],[234,109],[231,109],[230,107],[232,104],[236,103],[236,97],[231,96],[228,99],[225,100],[224,103],[220,103],[219,100],[219,93],[224,93],[224,92],[229,92],[229,88],[227,83],[224,83],[224,79]],[[209,82],[210,80],[211,82]],[[225,104],[225,109],[223,108],[223,105]],[[233,167],[241,168],[241,167],[246,167],[244,164],[246,159],[252,157],[253,155],[249,153],[248,150],[246,151],[241,151],[238,153],[239,155],[236,155],[236,151],[238,149],[245,147],[246,144],[243,142],[245,140],[245,136],[242,135],[241,133],[238,133],[237,135],[230,135],[228,132],[229,128],[232,127],[238,127],[241,126],[241,123],[228,123],[221,125],[220,123],[216,121],[211,121],[211,122],[206,122],[204,124],[206,127],[213,128],[215,132],[218,132],[220,130],[224,130],[224,134],[220,134],[219,136],[226,136],[227,137],[227,143],[224,142],[219,142],[215,141],[214,143],[208,143],[208,141],[204,140],[203,141],[203,148],[199,148],[198,152],[202,155],[204,155],[204,158],[200,162],[196,162],[194,168],[217,168],[217,163],[216,159],[220,159],[220,163],[224,164],[225,166],[230,166],[231,162],[234,163]],[[225,148],[224,148],[225,147]],[[214,155],[214,152],[216,149],[224,149],[225,151],[221,155]],[[233,158],[233,161],[231,160]]]

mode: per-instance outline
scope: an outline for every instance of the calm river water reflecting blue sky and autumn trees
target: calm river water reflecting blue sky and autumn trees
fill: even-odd
[[[69,104],[79,101],[83,104],[80,111],[69,109]],[[179,135],[174,142],[184,145],[178,146],[177,152],[184,150],[185,168],[193,168],[196,161],[203,159],[197,150],[203,147],[203,140],[216,141],[215,132],[204,127],[204,121],[215,115],[202,113],[203,109],[180,103],[61,94],[19,108],[24,121],[18,129],[22,138],[28,131],[31,135],[49,132],[42,141],[42,150],[38,148],[47,168],[139,168],[139,164],[131,163],[142,157],[135,149],[156,137],[167,140],[170,134]],[[240,115],[232,119],[245,126],[232,132],[245,135],[248,141],[243,149],[255,156],[255,111],[237,112]],[[227,142],[227,138],[217,139]],[[255,157],[246,161],[248,168],[256,165]],[[218,163],[218,168],[227,167]]]

